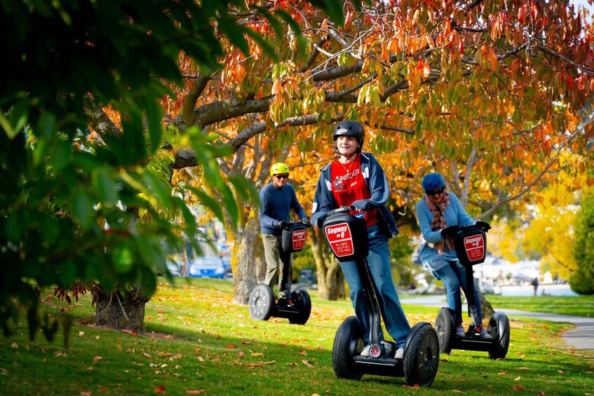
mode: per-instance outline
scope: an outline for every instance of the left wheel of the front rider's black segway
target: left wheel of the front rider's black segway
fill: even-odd
[[[363,329],[356,316],[349,316],[338,327],[332,345],[332,366],[338,378],[360,379],[363,373],[355,367],[358,344],[363,349]]]

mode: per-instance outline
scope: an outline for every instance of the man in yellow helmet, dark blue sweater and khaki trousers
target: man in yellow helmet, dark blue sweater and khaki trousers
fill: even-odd
[[[295,189],[288,182],[289,167],[285,163],[275,163],[270,168],[271,182],[259,192],[259,220],[266,259],[266,279],[264,282],[272,289],[278,277],[279,298],[290,299],[285,291],[290,290],[292,274],[292,254],[283,254],[283,228],[288,226],[291,210],[306,226],[310,225],[307,214],[297,200]],[[283,257],[285,257],[283,261]],[[287,266],[287,268],[284,268]],[[281,275],[278,275],[278,274]]]

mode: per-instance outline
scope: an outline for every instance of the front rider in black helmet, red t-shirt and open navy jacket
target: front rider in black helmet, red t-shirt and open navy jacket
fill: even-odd
[[[320,172],[316,195],[313,198],[311,221],[320,228],[330,210],[353,206],[351,214],[363,217],[367,224],[369,254],[367,264],[379,290],[378,300],[384,314],[386,330],[395,341],[382,341],[389,355],[403,358],[404,344],[410,333],[410,325],[404,314],[390,268],[388,239],[398,234],[396,221],[386,207],[389,186],[382,166],[371,153],[363,153],[365,128],[357,121],[340,121],[332,134],[339,158],[325,165]],[[360,326],[363,328],[365,348],[362,356],[369,356],[370,313],[365,303],[363,286],[355,261],[341,263],[342,272],[349,284],[351,302]],[[380,334],[384,340],[384,335]]]

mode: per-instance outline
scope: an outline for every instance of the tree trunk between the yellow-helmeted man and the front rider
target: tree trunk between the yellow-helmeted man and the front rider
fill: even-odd
[[[344,299],[346,292],[340,263],[334,256],[328,254],[328,246],[322,231],[318,228],[312,229],[313,231],[309,234],[318,273],[318,298],[331,301]]]

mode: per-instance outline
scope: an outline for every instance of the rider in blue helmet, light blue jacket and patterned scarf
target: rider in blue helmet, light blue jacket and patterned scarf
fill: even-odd
[[[423,177],[421,184],[425,196],[417,203],[417,217],[421,228],[419,257],[425,268],[431,271],[437,280],[443,281],[447,305],[456,315],[456,334],[464,336],[460,287],[466,289],[466,269],[458,261],[453,234],[450,234],[450,231],[456,226],[468,224],[489,225],[484,221],[473,221],[468,216],[456,194],[447,191],[443,177],[439,173],[428,173]],[[451,228],[448,230],[448,227]],[[479,322],[475,325],[482,327],[480,297],[474,284],[473,289]],[[480,336],[483,339],[492,338],[484,328]]]

